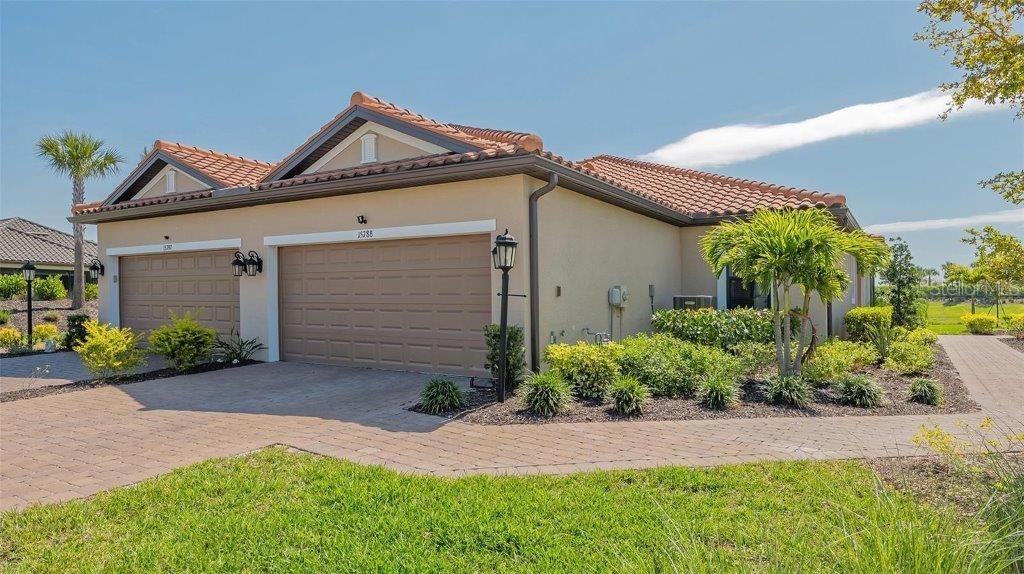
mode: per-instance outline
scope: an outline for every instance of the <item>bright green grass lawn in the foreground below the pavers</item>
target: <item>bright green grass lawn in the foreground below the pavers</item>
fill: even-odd
[[[989,571],[975,521],[853,461],[438,479],[273,448],[0,526],[11,572]]]

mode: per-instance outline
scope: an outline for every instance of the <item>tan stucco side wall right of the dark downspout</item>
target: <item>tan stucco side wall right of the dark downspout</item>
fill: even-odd
[[[650,329],[648,285],[655,306],[671,307],[683,276],[680,228],[556,188],[540,201],[541,341],[593,341],[583,329],[609,333],[608,289],[622,285],[630,300],[615,310],[613,335]],[[561,296],[557,286],[561,286]]]

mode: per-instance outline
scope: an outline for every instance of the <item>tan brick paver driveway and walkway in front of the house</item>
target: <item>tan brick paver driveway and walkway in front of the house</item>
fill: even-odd
[[[982,407],[1024,428],[1024,354],[992,338],[942,343]],[[0,507],[86,496],[274,443],[449,476],[567,473],[905,454],[922,424],[984,415],[475,426],[407,410],[425,379],[271,363],[2,403]]]

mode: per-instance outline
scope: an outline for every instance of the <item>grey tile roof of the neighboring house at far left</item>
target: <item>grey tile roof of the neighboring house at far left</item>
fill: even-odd
[[[96,257],[96,244],[86,240],[86,261]],[[0,261],[75,264],[75,237],[20,217],[0,219]]]

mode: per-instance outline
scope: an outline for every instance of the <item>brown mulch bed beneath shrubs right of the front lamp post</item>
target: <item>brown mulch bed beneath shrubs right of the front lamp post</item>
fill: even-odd
[[[779,406],[769,402],[762,383],[746,381],[739,393],[739,403],[727,410],[713,410],[695,399],[654,398],[639,415],[626,416],[614,411],[607,402],[573,401],[563,413],[552,417],[534,414],[512,396],[504,403],[494,402],[492,391],[471,391],[469,404],[459,411],[443,413],[478,425],[517,425],[537,423],[594,423],[604,421],[703,421],[715,418],[762,418],[769,416],[879,416],[900,414],[950,414],[978,410],[956,369],[941,346],[936,346],[935,366],[926,374],[940,382],[945,389],[945,402],[931,406],[910,402],[906,390],[914,378],[901,378],[881,368],[866,372],[886,391],[883,403],[874,408],[861,408],[840,403],[830,389],[814,389],[807,408]]]

